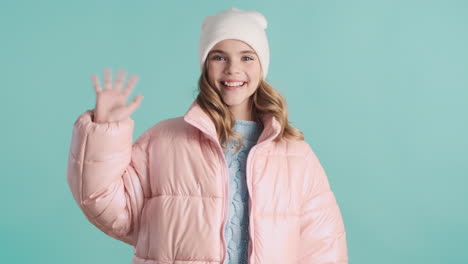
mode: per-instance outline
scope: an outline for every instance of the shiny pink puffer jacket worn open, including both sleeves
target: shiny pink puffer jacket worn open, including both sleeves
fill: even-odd
[[[226,255],[228,169],[215,126],[194,101],[134,144],[134,121],[74,124],[67,182],[86,218],[134,246],[133,264],[215,264]],[[248,154],[250,264],[348,263],[344,224],[305,141],[272,141],[273,116]]]

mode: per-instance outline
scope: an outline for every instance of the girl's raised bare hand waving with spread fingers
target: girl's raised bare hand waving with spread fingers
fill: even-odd
[[[138,76],[133,74],[127,85],[122,90],[125,78],[125,71],[120,70],[114,85],[112,85],[112,70],[104,69],[104,90],[99,85],[99,80],[95,74],[91,76],[94,90],[96,91],[96,107],[94,111],[94,122],[106,123],[116,122],[129,117],[140,105],[143,95],[137,95],[130,104],[126,101],[138,80]]]

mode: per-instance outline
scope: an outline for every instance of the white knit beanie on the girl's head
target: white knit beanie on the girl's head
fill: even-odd
[[[207,16],[202,23],[198,56],[200,71],[203,70],[208,52],[216,43],[225,39],[238,39],[252,47],[260,59],[263,79],[268,73],[270,48],[265,33],[266,18],[257,11],[243,11],[231,7],[223,12]]]

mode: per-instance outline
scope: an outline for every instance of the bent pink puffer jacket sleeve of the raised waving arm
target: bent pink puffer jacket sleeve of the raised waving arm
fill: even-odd
[[[132,144],[134,121],[93,122],[94,110],[73,127],[67,183],[86,218],[107,235],[135,246],[145,193],[148,133]]]

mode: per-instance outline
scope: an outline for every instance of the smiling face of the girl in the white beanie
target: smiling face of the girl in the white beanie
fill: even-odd
[[[208,81],[220,91],[224,103],[237,111],[247,109],[262,78],[255,51],[243,41],[225,39],[213,46],[206,60]]]

